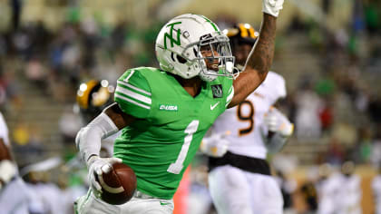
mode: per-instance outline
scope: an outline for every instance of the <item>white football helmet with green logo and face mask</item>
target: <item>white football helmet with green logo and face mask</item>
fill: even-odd
[[[202,49],[210,55],[204,56]],[[213,81],[218,75],[234,78],[234,56],[229,38],[219,27],[203,15],[179,15],[161,28],[156,39],[156,57],[161,69],[190,79],[199,75],[204,81]],[[215,62],[213,69],[206,61]],[[216,64],[218,62],[218,65]]]

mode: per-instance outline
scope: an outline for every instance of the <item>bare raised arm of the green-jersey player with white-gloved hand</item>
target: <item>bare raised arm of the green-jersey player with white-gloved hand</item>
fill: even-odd
[[[283,0],[263,0],[263,21],[257,43],[249,54],[246,67],[234,81],[234,97],[229,108],[243,102],[246,97],[262,83],[272,64],[275,46],[275,32],[278,11],[282,8]],[[273,7],[269,9],[270,5]]]

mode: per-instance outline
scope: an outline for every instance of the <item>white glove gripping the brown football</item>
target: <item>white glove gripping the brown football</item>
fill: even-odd
[[[87,168],[89,169],[88,180],[95,197],[100,198],[102,194],[101,184],[96,180],[96,177],[102,176],[103,172],[110,172],[112,164],[117,162],[122,162],[122,159],[100,158],[97,155],[93,155],[87,160]]]

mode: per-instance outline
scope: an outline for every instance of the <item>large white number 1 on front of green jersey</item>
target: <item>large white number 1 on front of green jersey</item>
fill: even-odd
[[[199,128],[199,121],[194,120],[190,122],[188,127],[185,129],[185,133],[188,135],[185,136],[184,144],[182,144],[181,151],[179,153],[179,156],[177,157],[177,160],[174,163],[171,163],[170,167],[168,168],[168,172],[171,172],[173,174],[179,174],[184,168],[182,163],[184,163],[185,158],[187,157],[187,153],[190,149],[190,142],[193,139],[193,133],[197,131]]]

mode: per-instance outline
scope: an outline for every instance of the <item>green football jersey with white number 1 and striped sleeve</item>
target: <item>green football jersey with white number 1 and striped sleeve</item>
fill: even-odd
[[[123,112],[137,118],[115,140],[114,156],[135,171],[138,190],[171,199],[200,141],[234,95],[232,80],[219,76],[190,96],[170,73],[128,70],[114,94]]]

